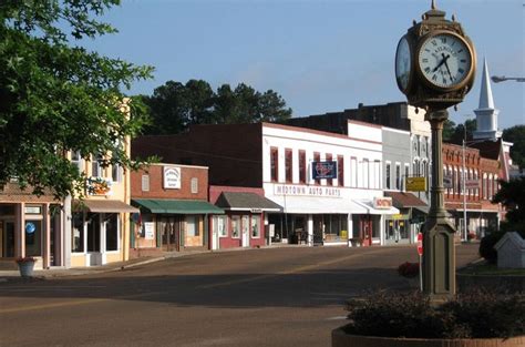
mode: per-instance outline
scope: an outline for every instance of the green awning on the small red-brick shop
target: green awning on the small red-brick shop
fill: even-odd
[[[133,198],[132,205],[142,212],[164,214],[224,214],[224,211],[205,201]]]

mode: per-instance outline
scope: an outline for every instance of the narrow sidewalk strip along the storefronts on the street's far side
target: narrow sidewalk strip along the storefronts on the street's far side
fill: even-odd
[[[276,244],[271,246],[262,246],[260,248],[275,248],[275,247],[298,247],[299,245],[287,245],[287,244]],[[195,254],[206,254],[206,253],[220,253],[220,252],[236,252],[236,251],[253,251],[259,248],[225,248],[216,251],[184,251],[184,252],[166,252],[161,256],[146,256],[130,259],[126,262],[115,262],[105,265],[99,266],[85,266],[85,267],[74,267],[74,268],[63,268],[63,267],[52,267],[50,269],[35,269],[33,272],[33,277],[22,278],[18,269],[13,271],[0,271],[0,285],[7,282],[20,282],[20,280],[39,280],[45,278],[55,278],[55,277],[66,277],[66,276],[82,276],[82,275],[93,275],[101,273],[110,273],[122,271],[125,268],[131,268],[140,265],[145,265],[155,262],[162,262],[168,258],[178,258]]]

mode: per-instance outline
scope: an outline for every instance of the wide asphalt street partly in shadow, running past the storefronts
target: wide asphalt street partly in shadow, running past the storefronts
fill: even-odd
[[[456,247],[457,266],[477,245]],[[415,246],[192,255],[121,272],[0,284],[0,346],[330,346],[347,298],[405,290]]]

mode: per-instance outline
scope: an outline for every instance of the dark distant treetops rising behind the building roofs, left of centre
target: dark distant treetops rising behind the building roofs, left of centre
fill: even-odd
[[[277,122],[291,116],[291,109],[277,92],[260,93],[245,83],[235,90],[223,84],[213,92],[203,80],[186,84],[168,81],[152,96],[144,96],[144,102],[153,118],[147,134],[177,134],[193,124]]]

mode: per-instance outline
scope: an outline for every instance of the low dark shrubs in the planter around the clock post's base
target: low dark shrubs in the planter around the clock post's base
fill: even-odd
[[[348,303],[347,334],[406,338],[488,338],[525,334],[523,295],[476,292],[433,306],[415,292],[377,293]]]

